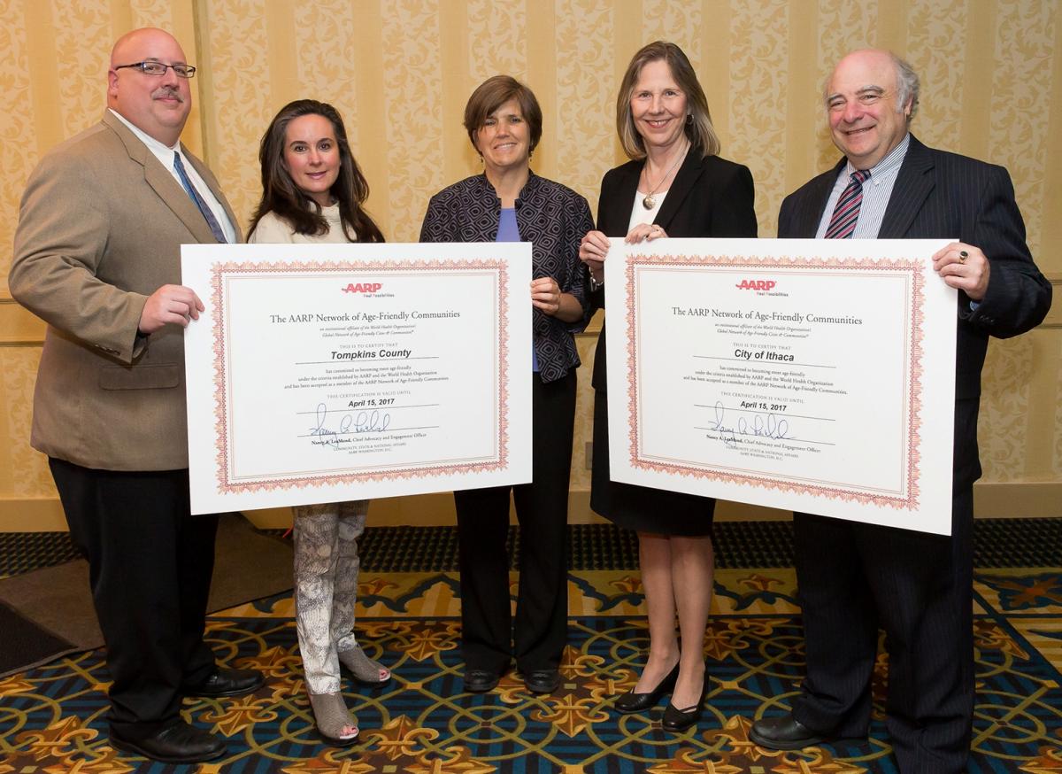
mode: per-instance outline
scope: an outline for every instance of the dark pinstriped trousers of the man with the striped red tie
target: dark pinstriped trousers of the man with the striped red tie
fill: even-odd
[[[966,771],[974,710],[973,487],[952,537],[793,515],[807,679],[793,716],[864,737],[878,627],[889,653],[886,724],[904,774]]]

